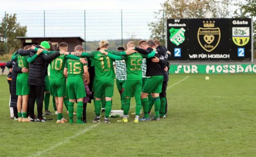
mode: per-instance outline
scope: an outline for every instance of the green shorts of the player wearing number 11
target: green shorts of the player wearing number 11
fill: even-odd
[[[102,98],[105,93],[105,97],[112,97],[114,93],[114,79],[97,80],[95,97]]]

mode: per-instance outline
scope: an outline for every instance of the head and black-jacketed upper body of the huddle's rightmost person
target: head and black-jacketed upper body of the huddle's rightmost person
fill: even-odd
[[[168,71],[165,71],[165,67],[169,67],[168,59],[171,58],[171,55],[167,53],[166,47],[158,46],[157,52],[160,55],[160,63],[161,63],[161,70],[163,72],[163,81],[169,81],[169,73]]]

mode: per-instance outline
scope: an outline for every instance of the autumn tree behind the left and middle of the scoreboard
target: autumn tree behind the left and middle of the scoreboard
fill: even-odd
[[[155,12],[157,22],[148,23],[150,38],[159,39],[165,44],[165,21],[168,18],[204,18],[207,11],[213,18],[229,17],[229,5],[232,0],[166,0],[160,4],[163,9]],[[163,16],[164,15],[164,16]]]

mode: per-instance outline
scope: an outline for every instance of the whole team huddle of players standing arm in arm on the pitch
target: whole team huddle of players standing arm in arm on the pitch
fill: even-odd
[[[69,122],[73,123],[74,103],[77,102],[77,124],[86,123],[86,106],[93,99],[95,119],[110,123],[114,78],[121,97],[121,110],[124,116],[118,122],[128,122],[131,98],[135,98],[135,119],[132,122],[160,120],[166,117],[166,87],[170,52],[160,46],[158,40],[127,43],[127,50],[119,47],[117,51],[108,50],[108,41],[101,41],[96,51],[84,52],[81,45],[74,52],[67,52],[67,43],[62,42],[56,51],[52,44],[43,41],[40,45],[26,46],[12,56],[9,68],[12,70],[10,84],[10,104],[17,96],[17,108],[12,109],[19,122],[46,122],[45,114],[52,114],[49,96],[53,96],[53,106],[57,123],[66,123],[63,105],[67,108]],[[113,66],[116,63],[116,74]],[[50,76],[47,67],[50,64]],[[8,67],[8,65],[7,65]],[[14,75],[15,77],[14,80]],[[93,76],[93,77],[91,77]],[[17,80],[16,80],[17,79]],[[16,86],[14,89],[14,86]],[[11,90],[12,89],[12,90]],[[92,91],[92,92],[91,92]],[[37,103],[38,116],[34,108]],[[154,105],[155,114],[149,118]],[[13,106],[16,107],[16,106]],[[144,116],[140,118],[141,109]],[[139,119],[140,118],[140,119]]]

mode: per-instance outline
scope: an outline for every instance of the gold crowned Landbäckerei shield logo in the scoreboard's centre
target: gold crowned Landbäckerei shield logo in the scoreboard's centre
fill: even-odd
[[[204,28],[198,29],[198,42],[207,52],[214,50],[221,39],[221,31],[214,28],[215,21],[203,21]]]

